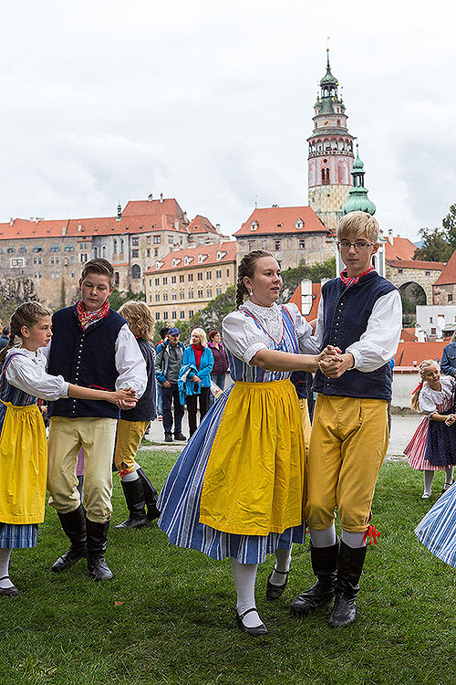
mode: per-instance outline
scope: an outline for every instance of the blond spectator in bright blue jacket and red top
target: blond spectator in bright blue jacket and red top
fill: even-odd
[[[185,378],[185,401],[189,410],[190,436],[196,431],[196,410],[200,398],[200,423],[209,409],[211,396],[212,352],[202,328],[192,331],[192,344],[185,348],[180,378]],[[190,381],[190,383],[189,383]]]

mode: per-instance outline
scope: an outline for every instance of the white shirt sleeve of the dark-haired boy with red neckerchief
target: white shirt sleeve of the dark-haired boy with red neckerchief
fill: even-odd
[[[116,390],[132,387],[136,390],[138,399],[143,395],[147,385],[147,371],[140,345],[125,323],[119,331],[115,343],[116,369],[119,376],[116,380]]]

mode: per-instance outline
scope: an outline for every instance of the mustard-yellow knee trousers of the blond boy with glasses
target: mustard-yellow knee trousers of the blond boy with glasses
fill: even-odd
[[[388,448],[387,401],[318,395],[307,458],[306,520],[364,532]]]

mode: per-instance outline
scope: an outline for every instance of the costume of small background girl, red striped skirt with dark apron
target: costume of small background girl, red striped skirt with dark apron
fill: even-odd
[[[456,464],[456,427],[446,426],[443,421],[433,421],[432,414],[451,414],[454,411],[456,380],[450,375],[440,376],[440,390],[432,390],[424,382],[420,390],[420,412],[425,414],[404,454],[409,457],[412,469],[430,474],[425,479],[424,495],[430,495],[431,476],[434,471],[446,471],[451,484],[453,465]]]

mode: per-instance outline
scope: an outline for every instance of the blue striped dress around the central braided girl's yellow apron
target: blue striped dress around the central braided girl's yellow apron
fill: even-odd
[[[295,322],[285,307],[281,308],[283,334],[279,342],[264,330],[252,311],[240,308],[244,316],[254,321],[255,327],[268,337],[269,349],[288,353],[298,353],[298,337]],[[260,338],[259,338],[260,339]],[[264,339],[264,335],[261,339]],[[262,345],[260,345],[261,347]],[[234,356],[227,347],[231,376],[236,381],[246,383],[271,383],[283,381],[291,375],[287,372],[265,371],[259,367],[249,366]],[[264,347],[264,345],[263,345]],[[290,549],[292,543],[304,543],[306,526],[300,525],[286,529],[284,532],[269,532],[267,535],[248,535],[222,532],[200,522],[200,502],[204,474],[211,453],[212,443],[222,420],[223,411],[233,391],[228,387],[223,395],[212,405],[202,419],[198,430],[181,452],[171,473],[161,490],[158,508],[161,511],[159,526],[166,532],[170,542],[179,547],[199,550],[212,559],[224,559],[233,556],[241,564],[263,563],[266,553],[275,549]],[[269,409],[268,409],[269,411]],[[275,407],[271,406],[274,412]],[[239,431],[244,430],[243,426]]]

